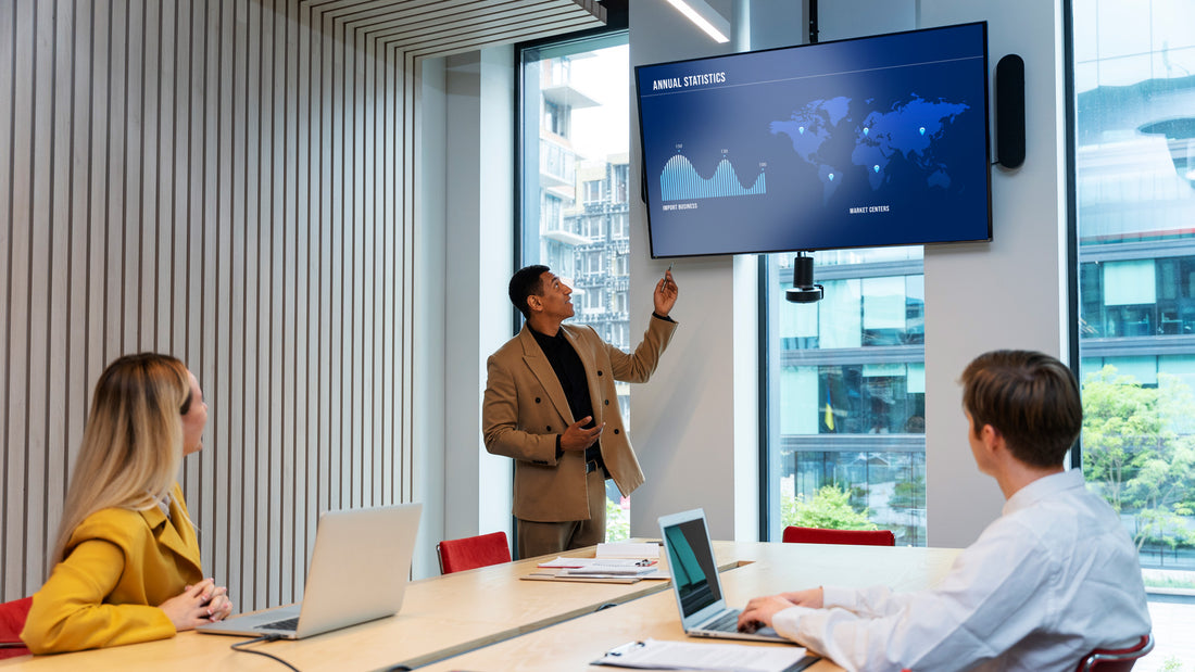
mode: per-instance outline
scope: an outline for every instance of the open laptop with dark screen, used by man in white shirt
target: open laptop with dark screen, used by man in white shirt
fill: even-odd
[[[760,628],[755,633],[739,631],[741,610],[727,608],[722,597],[722,580],[713,560],[705,511],[694,508],[661,517],[660,536],[668,553],[673,592],[676,593],[680,624],[686,635],[792,643],[771,628]]]

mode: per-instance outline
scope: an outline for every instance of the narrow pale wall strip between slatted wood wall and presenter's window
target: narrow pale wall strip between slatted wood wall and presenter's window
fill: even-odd
[[[480,390],[486,357],[510,333],[513,55],[504,47],[448,58],[445,538],[510,531],[511,464],[485,451]]]

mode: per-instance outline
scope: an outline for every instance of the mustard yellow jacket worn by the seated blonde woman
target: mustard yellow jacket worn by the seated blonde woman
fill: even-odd
[[[174,636],[158,605],[203,580],[200,544],[183,491],[171,489],[170,518],[105,508],[88,516],[50,573],[20,639],[32,653],[61,653]]]

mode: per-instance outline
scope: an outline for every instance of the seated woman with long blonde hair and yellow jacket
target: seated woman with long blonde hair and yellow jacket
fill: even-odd
[[[202,448],[208,406],[166,355],[128,355],[96,383],[67,491],[50,578],[20,636],[32,653],[171,637],[232,612],[204,579],[178,485]]]

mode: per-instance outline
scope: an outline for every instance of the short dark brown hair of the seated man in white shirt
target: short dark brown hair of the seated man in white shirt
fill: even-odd
[[[1017,460],[1062,466],[1083,429],[1079,383],[1066,364],[1041,352],[995,350],[968,364],[962,383],[976,436],[992,425]]]

